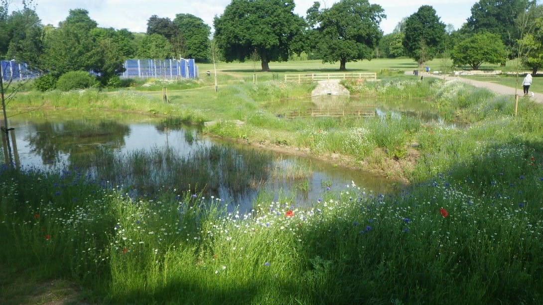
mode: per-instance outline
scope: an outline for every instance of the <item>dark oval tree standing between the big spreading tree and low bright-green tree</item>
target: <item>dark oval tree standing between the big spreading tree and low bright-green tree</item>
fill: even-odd
[[[445,24],[439,21],[430,5],[422,5],[407,18],[402,43],[407,55],[419,63],[419,66],[439,53],[443,49],[444,41]]]

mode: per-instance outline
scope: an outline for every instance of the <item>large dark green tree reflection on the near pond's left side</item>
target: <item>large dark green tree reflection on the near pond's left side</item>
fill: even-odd
[[[123,147],[128,125],[111,121],[71,120],[62,123],[34,124],[36,133],[28,135],[30,153],[39,154],[44,164],[57,163],[67,155],[70,166],[87,167],[89,157],[102,145]]]

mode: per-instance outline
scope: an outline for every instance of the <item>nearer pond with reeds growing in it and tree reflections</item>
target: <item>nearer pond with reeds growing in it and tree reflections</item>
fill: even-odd
[[[168,129],[149,118],[48,113],[12,117],[10,126],[23,168],[81,170],[109,187],[122,186],[134,198],[188,191],[247,211],[254,202],[311,206],[329,190],[353,183],[375,193],[396,187],[360,170],[219,143],[198,129]]]

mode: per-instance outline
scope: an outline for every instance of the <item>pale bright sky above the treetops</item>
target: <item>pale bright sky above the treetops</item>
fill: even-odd
[[[28,3],[29,0],[27,0]],[[22,8],[21,0],[10,0],[10,11]],[[43,24],[58,26],[68,16],[71,9],[81,8],[89,11],[98,27],[129,29],[132,32],[146,32],[147,20],[157,15],[173,20],[176,14],[192,14],[200,17],[213,27],[213,17],[220,16],[231,0],[33,0],[36,12]],[[304,17],[315,0],[294,0],[294,13]],[[320,1],[321,8],[330,8],[338,0]],[[458,29],[471,16],[471,7],[478,1],[472,0],[369,0],[384,9],[387,18],[381,22],[384,34],[392,33],[396,25],[405,17],[412,15],[421,5],[431,5],[441,22],[452,24]]]

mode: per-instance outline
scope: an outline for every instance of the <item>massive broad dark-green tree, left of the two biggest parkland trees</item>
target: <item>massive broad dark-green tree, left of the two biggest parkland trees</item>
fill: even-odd
[[[301,52],[299,37],[305,27],[295,15],[293,0],[232,0],[223,15],[215,17],[214,39],[227,62],[245,61],[257,54],[262,71],[270,61],[286,61]]]

